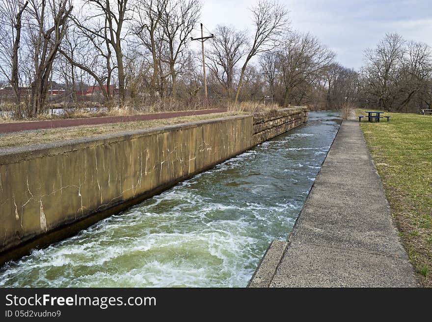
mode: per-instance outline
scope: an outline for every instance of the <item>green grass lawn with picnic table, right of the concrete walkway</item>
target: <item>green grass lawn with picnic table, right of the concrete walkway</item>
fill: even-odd
[[[384,115],[361,128],[417,279],[432,287],[432,116]]]

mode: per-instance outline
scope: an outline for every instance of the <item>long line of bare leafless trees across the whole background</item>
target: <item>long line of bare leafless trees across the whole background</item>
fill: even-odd
[[[200,32],[200,0],[76,3],[0,0],[0,81],[11,88],[18,117],[44,113],[55,82],[75,105],[84,87],[97,86],[108,107],[205,107],[201,53],[191,45]],[[338,64],[318,38],[293,30],[279,2],[257,0],[249,10],[250,30],[218,25],[205,43],[209,104],[431,104],[427,45],[389,34],[365,52],[356,72]]]

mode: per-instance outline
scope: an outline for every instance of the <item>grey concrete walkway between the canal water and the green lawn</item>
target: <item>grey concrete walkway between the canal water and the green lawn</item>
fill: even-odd
[[[417,286],[358,121],[343,121],[289,242],[249,283],[269,286]]]

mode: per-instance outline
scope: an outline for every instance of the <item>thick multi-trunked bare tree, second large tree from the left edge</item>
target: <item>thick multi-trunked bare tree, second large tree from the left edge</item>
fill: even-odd
[[[31,86],[31,113],[43,111],[53,62],[60,42],[66,34],[72,11],[70,0],[30,0],[29,23],[33,48],[34,79]],[[48,25],[48,26],[47,26]],[[51,26],[51,27],[49,27]]]

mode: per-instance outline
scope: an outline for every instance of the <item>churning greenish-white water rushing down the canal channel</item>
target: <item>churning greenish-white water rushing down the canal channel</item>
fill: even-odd
[[[0,269],[7,287],[244,287],[291,231],[333,141],[336,112]]]

